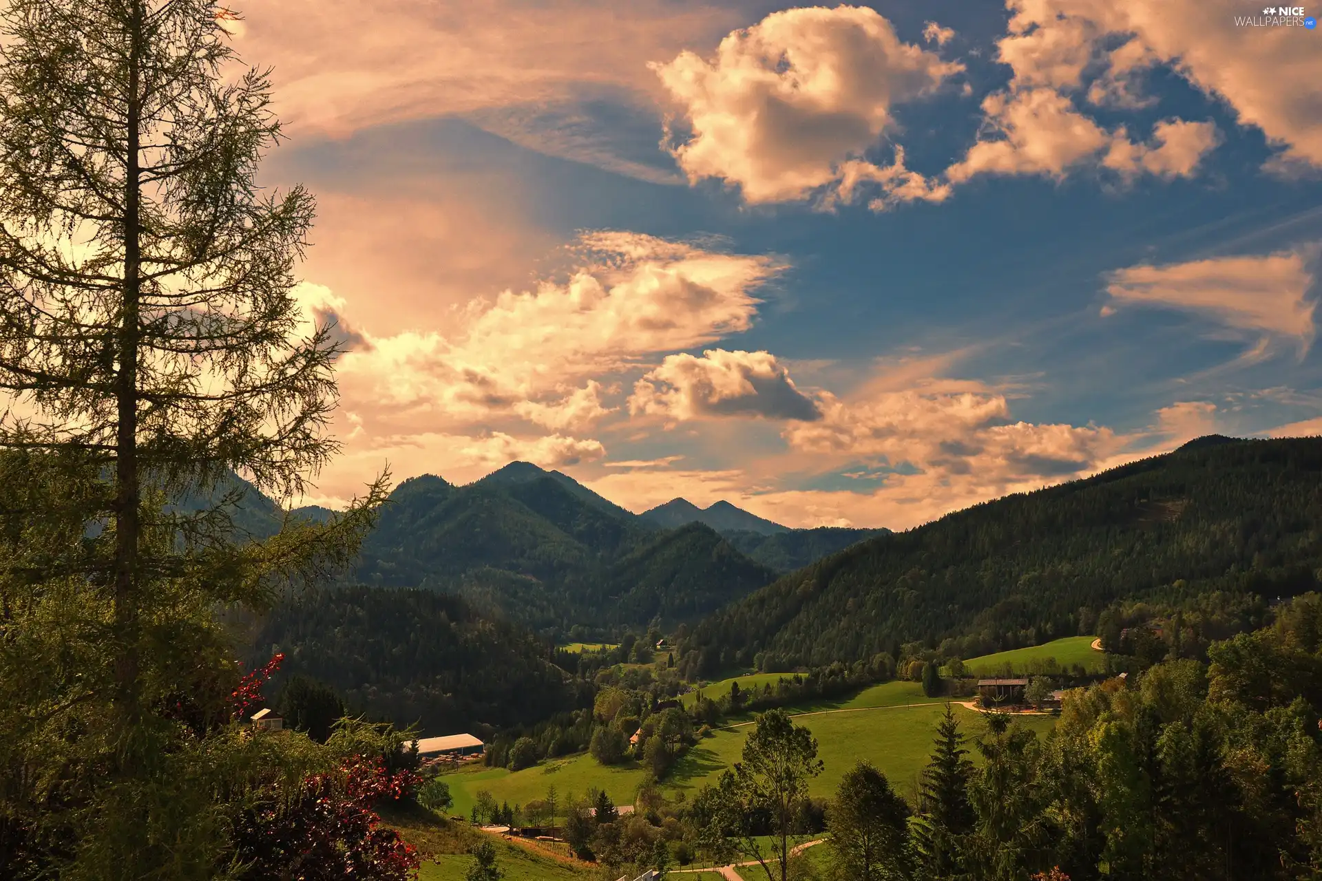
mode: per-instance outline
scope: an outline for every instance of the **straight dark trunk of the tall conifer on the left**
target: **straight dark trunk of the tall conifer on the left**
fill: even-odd
[[[135,3],[128,54],[128,143],[124,169],[124,292],[118,329],[115,436],[115,630],[123,645],[115,659],[116,700],[127,721],[137,717],[137,335],[141,293],[140,188],[141,148],[140,53],[141,4]]]

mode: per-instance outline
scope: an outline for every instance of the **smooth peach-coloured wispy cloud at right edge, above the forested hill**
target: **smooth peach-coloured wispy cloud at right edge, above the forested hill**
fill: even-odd
[[[1114,305],[1182,309],[1241,330],[1294,341],[1306,351],[1313,341],[1313,285],[1300,254],[1227,256],[1167,265],[1136,265],[1108,276]]]

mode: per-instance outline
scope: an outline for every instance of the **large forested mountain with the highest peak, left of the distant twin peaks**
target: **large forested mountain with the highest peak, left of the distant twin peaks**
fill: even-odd
[[[775,577],[706,526],[658,531],[526,462],[468,486],[405,481],[353,572],[457,593],[543,631],[697,621]]]

